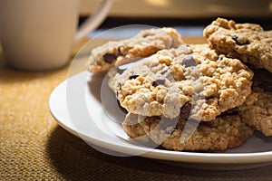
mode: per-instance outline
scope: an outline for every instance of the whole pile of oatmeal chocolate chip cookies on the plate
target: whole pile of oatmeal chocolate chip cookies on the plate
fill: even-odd
[[[186,44],[172,28],[151,29],[92,50],[92,72],[141,60],[109,72],[130,138],[205,151],[236,148],[254,129],[272,136],[272,32],[218,18],[204,37]]]

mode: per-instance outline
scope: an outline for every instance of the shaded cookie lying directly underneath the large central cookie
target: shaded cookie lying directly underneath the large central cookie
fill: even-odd
[[[241,121],[238,115],[224,116],[210,122],[200,122],[197,129],[185,141],[182,134],[187,121],[185,119],[166,119],[132,115],[137,126],[126,129],[128,135],[148,136],[157,145],[175,151],[226,150],[242,145],[253,135],[253,129]],[[191,122],[193,123],[193,122]],[[128,127],[125,124],[124,127]],[[185,133],[186,134],[186,133]]]

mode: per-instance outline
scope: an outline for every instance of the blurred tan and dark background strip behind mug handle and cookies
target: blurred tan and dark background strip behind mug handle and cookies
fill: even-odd
[[[100,0],[81,0],[81,22]],[[102,28],[123,24],[199,26],[216,17],[261,24],[272,29],[272,0],[113,0]]]

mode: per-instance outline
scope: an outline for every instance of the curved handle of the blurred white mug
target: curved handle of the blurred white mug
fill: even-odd
[[[102,0],[95,11],[83,22],[74,36],[74,43],[79,43],[84,37],[95,30],[107,17],[112,6],[112,0]]]

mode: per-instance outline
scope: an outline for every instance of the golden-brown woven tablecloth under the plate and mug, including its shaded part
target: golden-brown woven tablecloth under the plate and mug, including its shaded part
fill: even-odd
[[[272,180],[272,166],[209,171],[103,154],[58,126],[48,108],[69,66],[31,72],[0,62],[0,180]]]

